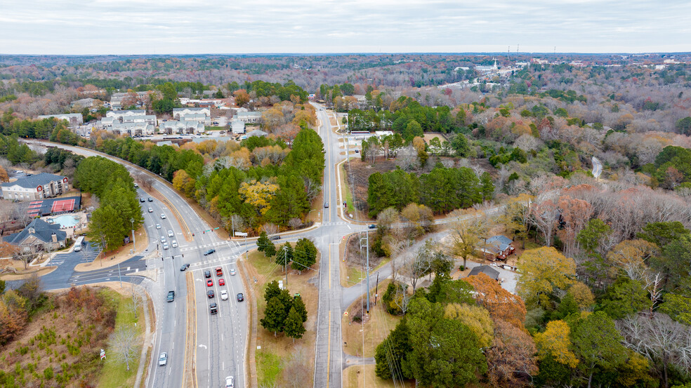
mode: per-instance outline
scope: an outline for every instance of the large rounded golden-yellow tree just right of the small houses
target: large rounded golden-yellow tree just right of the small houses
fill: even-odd
[[[551,246],[526,250],[516,267],[518,295],[527,306],[549,307],[555,290],[566,290],[575,283],[576,262]]]

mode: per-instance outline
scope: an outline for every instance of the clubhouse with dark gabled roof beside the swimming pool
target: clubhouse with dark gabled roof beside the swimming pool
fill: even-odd
[[[25,251],[55,250],[65,247],[67,232],[60,230],[60,225],[49,224],[40,218],[34,218],[22,232],[9,234],[3,240]]]

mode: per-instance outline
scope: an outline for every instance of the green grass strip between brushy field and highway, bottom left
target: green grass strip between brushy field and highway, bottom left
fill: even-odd
[[[102,291],[107,293],[107,295],[117,302],[117,316],[115,318],[115,330],[119,326],[134,326],[135,323],[141,321],[141,324],[137,324],[137,333],[141,336],[144,332],[144,319],[143,319],[143,309],[139,308],[137,313],[137,319],[134,317],[134,313],[128,308],[132,302],[131,297],[124,297],[113,290],[106,289]],[[132,387],[134,384],[134,379],[137,374],[137,369],[139,368],[139,356],[141,348],[136,352],[135,359],[130,363],[130,370],[126,370],[124,363],[118,363],[113,357],[108,357],[108,350],[106,349],[105,363],[103,369],[101,370],[100,381],[98,382],[99,388],[120,388],[120,387]]]

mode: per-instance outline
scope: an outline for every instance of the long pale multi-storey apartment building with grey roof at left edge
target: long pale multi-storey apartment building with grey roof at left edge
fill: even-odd
[[[70,189],[67,177],[40,173],[0,185],[2,197],[11,201],[35,201],[65,194]]]

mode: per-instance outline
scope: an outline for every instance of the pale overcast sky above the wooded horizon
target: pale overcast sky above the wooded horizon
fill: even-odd
[[[0,53],[691,51],[689,0],[0,0]]]

